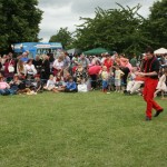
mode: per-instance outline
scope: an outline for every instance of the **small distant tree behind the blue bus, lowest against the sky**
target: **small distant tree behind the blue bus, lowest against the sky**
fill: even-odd
[[[69,49],[72,43],[71,32],[68,31],[68,28],[60,28],[58,32],[50,37],[49,42],[61,42],[63,49]]]

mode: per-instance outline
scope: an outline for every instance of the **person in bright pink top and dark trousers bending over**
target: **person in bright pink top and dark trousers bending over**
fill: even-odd
[[[99,72],[101,69],[102,68],[99,65],[91,66],[88,69],[88,73],[91,78],[91,88],[92,89],[96,89],[96,87],[97,87],[97,79],[98,79],[98,76],[99,76]]]

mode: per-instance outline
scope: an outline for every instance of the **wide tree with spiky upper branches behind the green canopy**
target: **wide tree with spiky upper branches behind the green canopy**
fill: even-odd
[[[118,52],[138,53],[150,41],[141,31],[144,18],[140,6],[119,9],[96,9],[96,17],[81,18],[85,22],[76,30],[75,45],[82,50],[104,47]]]

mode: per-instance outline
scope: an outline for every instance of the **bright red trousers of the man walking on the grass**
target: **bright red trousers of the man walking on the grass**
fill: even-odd
[[[156,90],[158,79],[146,78],[144,87],[144,99],[147,102],[146,116],[151,118],[151,110],[160,110],[161,107],[154,100],[154,92]]]

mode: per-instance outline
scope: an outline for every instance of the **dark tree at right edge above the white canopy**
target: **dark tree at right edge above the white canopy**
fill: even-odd
[[[144,29],[155,49],[167,48],[167,0],[154,2]]]

